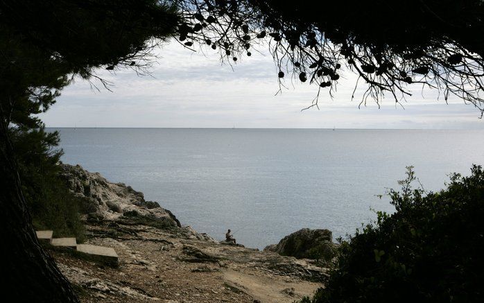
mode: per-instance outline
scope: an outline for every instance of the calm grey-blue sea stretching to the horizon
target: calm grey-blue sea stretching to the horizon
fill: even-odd
[[[302,227],[352,234],[415,166],[426,190],[484,164],[482,130],[58,128],[65,155],[142,191],[182,224],[254,248]]]

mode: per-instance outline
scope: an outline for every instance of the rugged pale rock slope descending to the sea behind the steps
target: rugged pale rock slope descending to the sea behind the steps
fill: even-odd
[[[99,173],[89,173],[81,166],[61,164],[60,176],[82,201],[82,212],[98,220],[123,220],[157,227],[180,227],[171,211],[157,202],[144,200],[143,193],[123,183],[107,181]]]

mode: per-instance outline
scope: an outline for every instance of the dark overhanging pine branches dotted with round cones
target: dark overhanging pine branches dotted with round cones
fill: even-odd
[[[481,0],[173,2],[182,16],[178,39],[187,47],[208,44],[236,61],[268,42],[279,78],[290,73],[332,93],[345,68],[368,87],[356,96],[361,104],[379,104],[383,94],[401,103],[409,85],[420,85],[483,114]]]

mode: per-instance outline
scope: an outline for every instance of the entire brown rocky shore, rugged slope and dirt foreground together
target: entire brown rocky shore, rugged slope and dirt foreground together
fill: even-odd
[[[62,178],[82,201],[86,242],[119,255],[112,268],[51,252],[82,302],[293,302],[327,277],[313,259],[219,243],[143,193],[80,166],[62,164]]]

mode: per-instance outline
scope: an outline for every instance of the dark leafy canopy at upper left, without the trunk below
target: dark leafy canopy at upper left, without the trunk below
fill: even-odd
[[[102,66],[142,69],[154,39],[177,22],[151,0],[1,1],[0,19],[0,108],[7,123],[27,127],[72,76],[90,78]]]

